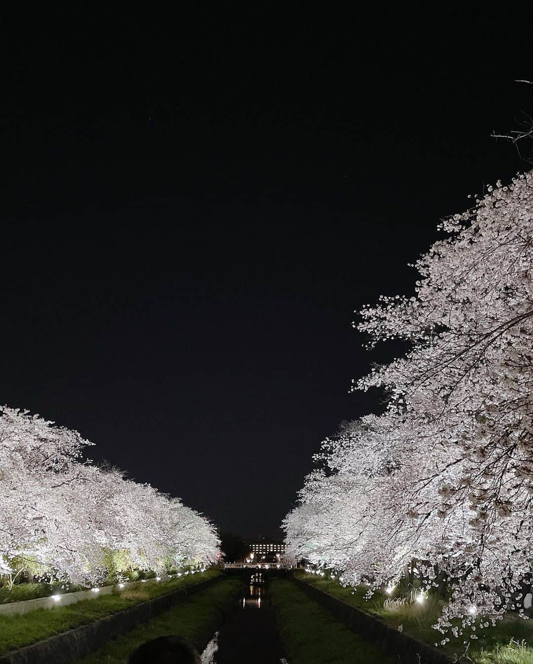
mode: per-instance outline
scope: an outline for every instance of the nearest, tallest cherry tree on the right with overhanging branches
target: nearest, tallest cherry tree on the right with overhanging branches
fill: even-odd
[[[362,312],[371,343],[402,338],[411,349],[359,386],[385,388],[391,426],[407,422],[410,515],[421,533],[441,521],[432,553],[458,580],[445,618],[471,606],[493,617],[516,606],[530,573],[532,173],[490,187],[443,229],[451,237],[417,263],[417,296]]]

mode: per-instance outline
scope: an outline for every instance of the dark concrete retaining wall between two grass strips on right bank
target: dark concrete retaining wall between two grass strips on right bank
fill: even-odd
[[[407,634],[389,627],[378,618],[374,618],[354,606],[338,600],[327,592],[296,578],[296,576],[292,578],[302,590],[328,609],[348,629],[366,641],[380,645],[389,655],[397,657],[402,664],[451,664],[453,662],[443,651],[415,641]],[[464,660],[459,660],[459,664],[462,661]]]

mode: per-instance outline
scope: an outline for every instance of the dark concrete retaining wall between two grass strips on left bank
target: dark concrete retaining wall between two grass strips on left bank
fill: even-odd
[[[110,639],[156,618],[162,612],[171,609],[183,597],[203,590],[221,578],[223,576],[214,576],[189,588],[175,590],[150,602],[143,602],[88,625],[69,629],[49,639],[0,655],[0,664],[72,664],[102,647]]]

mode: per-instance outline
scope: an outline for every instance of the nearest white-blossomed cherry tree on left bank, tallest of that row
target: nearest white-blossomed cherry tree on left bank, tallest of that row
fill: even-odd
[[[2,409],[0,550],[4,560],[36,556],[51,570],[61,568],[64,558],[79,560],[72,552],[82,531],[73,527],[77,501],[70,497],[80,489],[78,459],[88,445],[77,432],[52,425],[28,411]],[[74,569],[69,572],[78,576]]]

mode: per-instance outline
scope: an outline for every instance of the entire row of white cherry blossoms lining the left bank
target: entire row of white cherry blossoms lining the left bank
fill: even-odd
[[[82,457],[88,445],[27,410],[0,408],[0,574],[22,560],[48,576],[90,583],[106,574],[112,552],[156,572],[217,559],[219,540],[205,517],[97,467]]]

